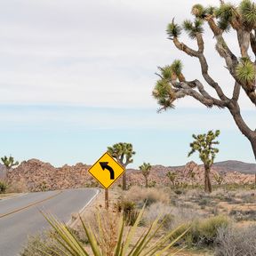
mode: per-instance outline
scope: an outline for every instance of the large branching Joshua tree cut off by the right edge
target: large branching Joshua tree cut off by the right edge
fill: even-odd
[[[185,20],[182,26],[173,19],[168,25],[167,33],[176,48],[199,61],[204,82],[199,79],[187,81],[180,60],[174,60],[172,65],[159,68],[157,75],[160,79],[153,91],[161,106],[159,110],[173,108],[175,100],[186,96],[193,97],[208,108],[228,108],[239,130],[250,140],[256,158],[256,130],[245,123],[238,103],[240,92],[243,90],[248,100],[256,106],[256,5],[250,0],[243,0],[238,6],[224,1],[220,1],[219,7],[204,8],[203,5],[196,4],[192,7],[192,15],[195,20]],[[218,84],[216,77],[209,73],[208,61],[204,54],[204,23],[210,27],[216,42],[215,50],[226,63],[225,68],[228,68],[234,81],[231,97],[223,92],[224,84]],[[236,54],[237,56],[224,39],[225,33],[231,29],[236,33],[240,48],[240,54]],[[182,30],[185,30],[191,39],[196,40],[197,49],[180,42]],[[250,56],[249,51],[254,56]],[[207,92],[206,86],[216,92],[215,97]]]

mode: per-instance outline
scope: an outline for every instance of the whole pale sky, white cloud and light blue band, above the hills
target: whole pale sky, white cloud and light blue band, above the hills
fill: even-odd
[[[182,99],[175,109],[156,113],[157,67],[180,59],[187,80],[203,81],[197,60],[176,50],[165,30],[173,17],[180,23],[192,19],[191,6],[205,1],[173,3],[1,1],[0,155],[54,166],[93,164],[108,146],[131,142],[136,151],[131,167],[199,163],[198,156],[187,157],[192,133],[220,129],[216,161],[254,163],[252,148],[228,110]],[[204,35],[210,72],[230,96],[234,82],[214,51],[209,29]],[[235,34],[226,38],[238,54]],[[196,46],[185,33],[181,40]],[[255,107],[244,93],[240,105],[254,129]]]

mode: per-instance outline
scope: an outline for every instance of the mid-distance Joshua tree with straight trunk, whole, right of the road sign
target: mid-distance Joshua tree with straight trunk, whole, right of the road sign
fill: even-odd
[[[210,172],[215,156],[219,152],[219,149],[214,148],[213,145],[220,144],[219,141],[215,140],[219,135],[219,130],[216,132],[210,131],[207,134],[193,134],[192,137],[195,140],[190,143],[191,151],[188,153],[188,156],[191,156],[198,151],[199,157],[204,163],[204,191],[208,193],[212,193]]]

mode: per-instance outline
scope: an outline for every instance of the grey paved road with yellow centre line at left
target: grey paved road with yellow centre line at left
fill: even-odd
[[[38,209],[51,212],[68,222],[72,212],[79,212],[98,193],[97,189],[70,189],[29,193],[0,201],[0,256],[19,255],[28,235],[48,227]],[[36,205],[29,206],[29,204]],[[41,203],[38,203],[41,202]],[[28,207],[28,208],[26,208]],[[24,208],[19,212],[18,209]],[[9,215],[6,213],[13,212]]]

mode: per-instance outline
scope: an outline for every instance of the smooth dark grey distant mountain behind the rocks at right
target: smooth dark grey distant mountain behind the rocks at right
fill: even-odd
[[[247,164],[234,160],[216,163],[214,167],[222,169],[224,172],[256,173],[256,164]]]

